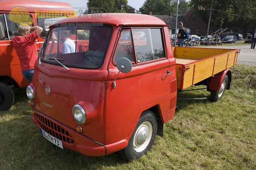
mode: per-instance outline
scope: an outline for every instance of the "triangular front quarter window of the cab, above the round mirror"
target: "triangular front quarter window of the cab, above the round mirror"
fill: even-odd
[[[118,46],[114,57],[115,63],[118,61],[118,59],[122,57],[125,57],[129,59],[132,63],[135,63],[134,50],[132,45],[132,35],[130,30],[124,30],[121,33],[121,37],[118,41]]]

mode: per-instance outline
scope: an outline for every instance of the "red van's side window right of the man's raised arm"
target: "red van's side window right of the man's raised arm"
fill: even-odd
[[[57,16],[57,17],[55,15],[38,15],[37,16],[37,24],[39,27],[43,28],[43,32],[40,36],[45,38],[49,31],[50,25],[53,25],[57,21],[60,21],[64,18],[66,18],[66,16],[64,16],[64,15]]]

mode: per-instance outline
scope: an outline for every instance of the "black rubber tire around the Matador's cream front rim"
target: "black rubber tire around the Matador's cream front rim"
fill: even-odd
[[[137,145],[134,138],[135,138],[136,134],[139,134],[138,133],[138,132],[140,132],[139,129],[145,128],[143,126],[141,127],[141,125],[144,125],[144,123],[151,123],[151,125],[152,125],[152,136],[151,136],[151,139],[148,139],[148,141],[149,141],[149,143],[148,143],[147,137],[149,137],[150,134],[145,135],[145,133],[142,133],[141,137],[138,138],[138,139],[141,139],[141,140],[138,140],[138,141],[139,142],[143,142],[143,144],[140,147],[136,148],[136,147],[134,147],[134,145],[135,146]],[[150,131],[149,129],[150,128],[148,128],[148,131]],[[132,159],[140,158],[142,155],[146,154],[148,150],[151,149],[151,147],[152,147],[152,145],[153,145],[153,143],[155,141],[155,138],[156,138],[156,132],[157,132],[157,119],[156,119],[156,115],[152,111],[149,111],[149,110],[144,111],[141,114],[140,119],[138,120],[138,123],[137,123],[137,125],[136,125],[136,127],[134,129],[134,132],[132,133],[132,136],[131,136],[131,138],[130,138],[130,140],[128,142],[127,147],[122,149],[122,150],[120,150],[119,153],[126,160],[132,160]],[[143,149],[144,147],[146,147],[146,148]],[[140,151],[140,149],[143,149],[143,150]]]

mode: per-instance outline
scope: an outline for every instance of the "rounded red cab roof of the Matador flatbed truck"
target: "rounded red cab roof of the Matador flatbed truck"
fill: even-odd
[[[116,26],[166,26],[166,23],[159,18],[144,14],[128,13],[104,13],[104,14],[87,14],[82,17],[70,17],[58,21],[58,23],[88,22],[103,23]],[[58,24],[57,23],[57,24]]]

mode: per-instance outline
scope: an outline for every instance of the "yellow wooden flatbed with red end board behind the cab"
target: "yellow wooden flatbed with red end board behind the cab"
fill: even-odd
[[[234,65],[239,49],[173,47],[177,88],[184,90]]]

